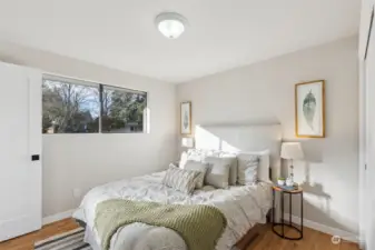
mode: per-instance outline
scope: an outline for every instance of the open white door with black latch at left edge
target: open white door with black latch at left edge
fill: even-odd
[[[0,241],[41,228],[40,152],[41,73],[0,62]]]

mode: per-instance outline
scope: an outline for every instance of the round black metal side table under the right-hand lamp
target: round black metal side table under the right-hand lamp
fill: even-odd
[[[276,199],[276,192],[280,192],[282,198],[282,221],[279,223],[275,220],[275,199]],[[284,219],[284,196],[289,194],[289,221],[286,221]],[[292,197],[295,194],[300,196],[300,228],[296,224],[292,223]],[[282,227],[282,232],[278,232],[275,228]],[[298,233],[298,237],[287,237],[285,234],[285,227],[295,230]],[[287,240],[300,240],[304,237],[304,190],[302,188],[298,188],[296,190],[286,190],[280,187],[274,186],[273,187],[273,231],[278,237]]]

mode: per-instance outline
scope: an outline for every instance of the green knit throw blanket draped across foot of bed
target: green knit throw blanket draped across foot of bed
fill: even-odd
[[[108,250],[116,231],[135,222],[176,231],[189,250],[214,250],[227,226],[224,214],[213,206],[107,200],[96,209],[95,227],[101,240],[101,248]]]

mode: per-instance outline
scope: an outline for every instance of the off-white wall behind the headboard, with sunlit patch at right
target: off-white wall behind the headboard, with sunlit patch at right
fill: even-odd
[[[357,234],[356,37],[179,84],[177,101],[193,102],[195,124],[278,121],[284,139],[296,141],[295,83],[317,79],[326,80],[327,136],[300,140],[307,162],[295,172],[305,182],[305,218]]]

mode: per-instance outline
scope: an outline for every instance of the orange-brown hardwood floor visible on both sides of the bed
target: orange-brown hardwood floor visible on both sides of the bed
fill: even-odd
[[[77,227],[78,224],[71,219],[61,220],[45,226],[40,231],[2,242],[0,243],[0,250],[32,250],[36,241],[72,230]],[[333,244],[330,238],[330,236],[323,232],[305,228],[303,240],[283,240],[270,230],[270,226],[267,226],[247,250],[358,250],[358,246],[352,242],[343,241],[341,244]]]

